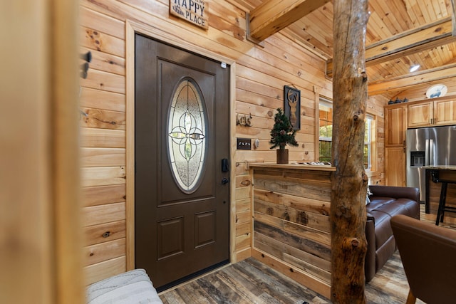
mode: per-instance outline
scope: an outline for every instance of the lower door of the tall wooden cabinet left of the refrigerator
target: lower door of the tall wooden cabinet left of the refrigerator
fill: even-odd
[[[387,186],[405,187],[405,148],[385,148],[386,167],[385,184]]]

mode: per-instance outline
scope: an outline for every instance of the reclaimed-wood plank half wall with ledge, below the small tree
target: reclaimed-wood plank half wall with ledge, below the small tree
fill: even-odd
[[[252,256],[331,298],[330,166],[249,164]]]

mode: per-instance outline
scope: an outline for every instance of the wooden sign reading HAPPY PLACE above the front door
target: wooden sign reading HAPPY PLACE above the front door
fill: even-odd
[[[193,23],[201,28],[209,28],[209,4],[204,0],[170,0],[170,14]]]

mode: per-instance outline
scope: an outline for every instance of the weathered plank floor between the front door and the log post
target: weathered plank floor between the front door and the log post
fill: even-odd
[[[247,258],[160,294],[163,303],[329,303],[265,264]]]

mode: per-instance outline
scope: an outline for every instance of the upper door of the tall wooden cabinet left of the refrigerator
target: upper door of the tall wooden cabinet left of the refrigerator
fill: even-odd
[[[386,147],[403,147],[406,129],[405,106],[385,108]]]

